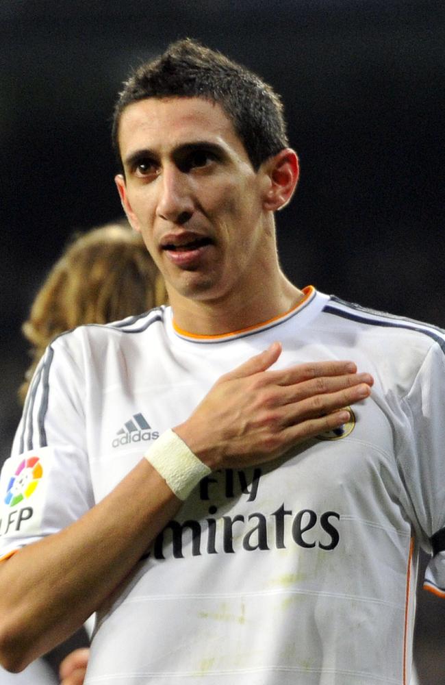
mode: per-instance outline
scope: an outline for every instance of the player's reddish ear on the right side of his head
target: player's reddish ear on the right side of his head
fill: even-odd
[[[294,195],[300,173],[298,157],[290,147],[280,150],[277,155],[264,162],[266,184],[263,206],[270,212],[283,209]]]

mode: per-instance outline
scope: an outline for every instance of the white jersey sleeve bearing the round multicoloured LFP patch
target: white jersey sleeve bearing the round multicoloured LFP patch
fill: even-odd
[[[36,369],[1,471],[0,559],[62,530],[94,503],[81,401],[84,375],[62,338]]]

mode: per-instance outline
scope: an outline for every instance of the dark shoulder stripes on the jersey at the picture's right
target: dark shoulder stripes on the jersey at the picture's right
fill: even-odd
[[[423,333],[429,336],[440,346],[445,353],[445,331],[437,326],[415,319],[407,319],[404,316],[377,312],[376,310],[366,309],[357,304],[345,302],[338,297],[331,297],[329,304],[323,309],[327,314],[340,316],[342,319],[349,319],[357,323],[364,323],[370,326],[381,326],[387,328],[401,328],[405,330]]]

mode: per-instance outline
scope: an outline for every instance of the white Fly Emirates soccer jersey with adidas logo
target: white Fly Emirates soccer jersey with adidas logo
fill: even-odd
[[[372,395],[342,429],[203,479],[99,616],[86,685],[407,685],[418,547],[445,596],[445,337],[307,288],[227,336],[169,308],[49,347],[1,477],[8,556],[101,500],[223,373],[352,359]]]

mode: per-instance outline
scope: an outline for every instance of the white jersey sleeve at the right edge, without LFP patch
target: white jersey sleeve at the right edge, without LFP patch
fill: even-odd
[[[445,343],[427,354],[402,401],[412,432],[401,466],[424,547],[432,558],[424,588],[445,597]]]

